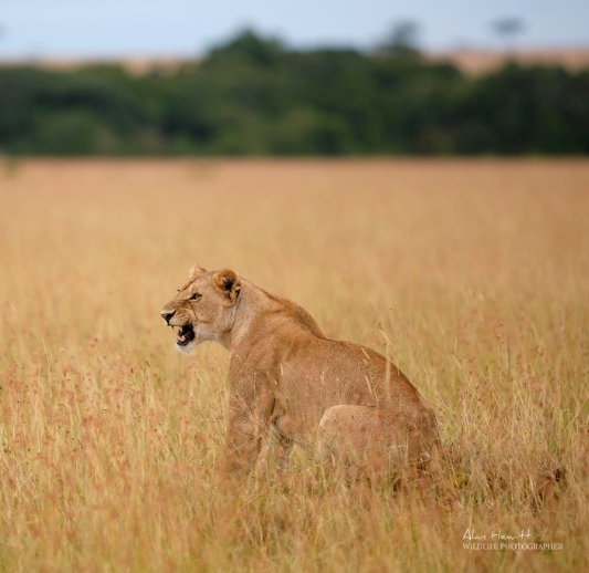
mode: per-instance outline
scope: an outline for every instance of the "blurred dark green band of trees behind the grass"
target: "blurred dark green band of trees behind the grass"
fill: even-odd
[[[0,67],[0,153],[587,154],[589,70],[471,77],[395,43],[295,51],[245,31],[173,72]]]

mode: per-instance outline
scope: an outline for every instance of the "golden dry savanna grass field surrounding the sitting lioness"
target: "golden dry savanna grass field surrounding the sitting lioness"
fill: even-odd
[[[586,159],[1,167],[2,571],[589,571]],[[227,353],[160,317],[194,261],[391,355],[440,471],[227,487]]]

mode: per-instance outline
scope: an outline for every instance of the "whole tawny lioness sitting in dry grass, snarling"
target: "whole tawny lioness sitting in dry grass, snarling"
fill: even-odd
[[[326,338],[301,306],[235,271],[197,264],[161,316],[190,354],[217,341],[230,355],[225,469],[249,472],[264,437],[287,463],[293,444],[343,467],[423,466],[438,449],[433,411],[379,353]]]

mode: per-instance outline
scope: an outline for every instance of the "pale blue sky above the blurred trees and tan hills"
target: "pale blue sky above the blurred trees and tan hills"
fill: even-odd
[[[366,49],[406,20],[427,49],[496,48],[503,17],[525,22],[517,46],[589,46],[589,0],[0,0],[0,59],[202,55],[244,27]]]

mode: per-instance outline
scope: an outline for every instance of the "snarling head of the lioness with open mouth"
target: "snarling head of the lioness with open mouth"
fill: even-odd
[[[208,272],[194,264],[188,281],[164,306],[161,316],[169,326],[178,326],[176,347],[190,354],[204,341],[223,344],[235,321],[241,281],[235,271]]]

